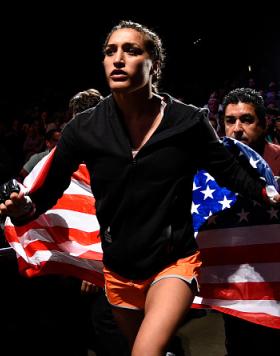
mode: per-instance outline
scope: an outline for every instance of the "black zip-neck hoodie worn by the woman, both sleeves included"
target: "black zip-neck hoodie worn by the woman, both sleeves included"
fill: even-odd
[[[197,250],[191,203],[198,169],[222,186],[262,200],[264,183],[218,140],[206,111],[163,96],[163,119],[135,158],[111,95],[77,115],[63,130],[44,185],[31,196],[38,216],[56,203],[85,162],[104,264],[128,279],[146,279]]]

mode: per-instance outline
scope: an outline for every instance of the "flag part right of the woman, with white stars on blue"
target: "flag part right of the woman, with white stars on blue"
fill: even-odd
[[[224,144],[241,164],[277,186],[255,151],[229,138]],[[192,216],[204,263],[194,305],[280,328],[279,208],[236,195],[200,171],[193,183]]]

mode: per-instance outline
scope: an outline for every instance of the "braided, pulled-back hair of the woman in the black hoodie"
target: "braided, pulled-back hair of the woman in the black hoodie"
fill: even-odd
[[[147,52],[151,56],[153,62],[157,61],[159,63],[158,71],[153,75],[152,78],[153,87],[154,89],[157,89],[158,83],[161,78],[161,72],[164,67],[164,61],[165,61],[165,50],[163,48],[160,37],[154,31],[150,30],[148,27],[141,25],[137,22],[121,21],[118,25],[114,26],[110,31],[110,33],[107,35],[103,45],[103,51],[105,51],[108,41],[111,35],[113,34],[113,32],[120,30],[122,28],[131,28],[143,34]]]

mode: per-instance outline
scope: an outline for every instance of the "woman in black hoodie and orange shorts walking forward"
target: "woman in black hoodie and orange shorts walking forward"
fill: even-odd
[[[104,45],[112,95],[65,127],[46,182],[30,195],[31,211],[23,193],[1,204],[15,224],[37,217],[85,161],[106,294],[133,356],[163,355],[197,292],[201,261],[190,214],[197,169],[248,197],[268,200],[264,183],[222,146],[204,110],[155,92],[163,61],[154,32],[127,21],[114,27]]]

